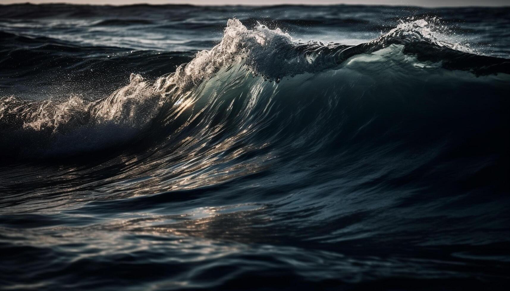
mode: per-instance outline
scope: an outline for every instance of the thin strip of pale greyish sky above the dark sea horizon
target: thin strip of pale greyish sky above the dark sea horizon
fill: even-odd
[[[0,4],[14,3],[72,3],[96,5],[128,4],[192,4],[192,5],[278,5],[278,4],[372,4],[372,5],[409,5],[424,7],[445,6],[510,6],[508,0],[0,0]]]

